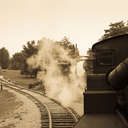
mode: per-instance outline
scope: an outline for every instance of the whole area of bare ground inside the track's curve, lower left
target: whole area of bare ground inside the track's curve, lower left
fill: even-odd
[[[0,128],[40,128],[40,112],[36,105],[15,91],[0,92]]]

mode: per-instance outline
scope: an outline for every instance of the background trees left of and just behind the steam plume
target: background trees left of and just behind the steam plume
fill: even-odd
[[[55,42],[60,47],[66,49],[72,58],[76,58],[79,55],[78,48],[72,44],[67,37],[64,37],[61,41]],[[36,55],[39,51],[40,40],[39,41],[28,41],[26,45],[23,45],[23,50],[12,55],[10,58],[9,52],[6,48],[0,49],[0,67],[2,69],[13,69],[21,70],[22,75],[29,75],[31,77],[36,77],[37,72],[40,67],[31,68],[27,64],[27,59],[33,55]]]

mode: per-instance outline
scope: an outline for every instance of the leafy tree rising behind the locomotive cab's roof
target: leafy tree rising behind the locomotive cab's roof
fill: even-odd
[[[128,34],[128,23],[124,21],[111,23],[109,29],[105,29],[104,32],[105,34],[100,38],[100,41],[118,35]]]

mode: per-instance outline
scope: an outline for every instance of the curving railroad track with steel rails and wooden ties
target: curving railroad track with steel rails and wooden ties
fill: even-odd
[[[4,79],[1,79],[0,82],[7,88],[25,95],[36,104],[40,110],[41,128],[73,128],[79,120],[79,115],[72,109],[63,107],[60,103],[44,96],[41,92],[16,86]]]

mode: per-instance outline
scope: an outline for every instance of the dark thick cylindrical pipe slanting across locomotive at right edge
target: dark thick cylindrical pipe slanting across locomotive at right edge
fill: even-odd
[[[124,89],[128,85],[128,58],[107,73],[106,81],[115,90]]]

